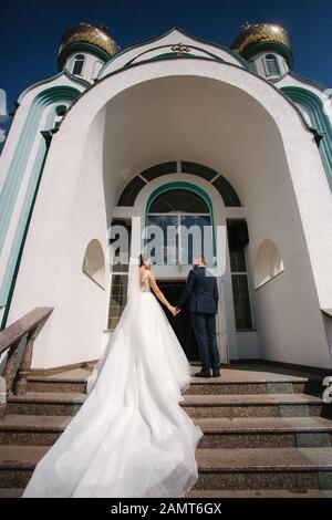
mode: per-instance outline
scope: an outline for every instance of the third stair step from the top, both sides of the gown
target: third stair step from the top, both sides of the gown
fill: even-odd
[[[51,446],[70,416],[8,415],[0,422],[0,444]],[[197,418],[199,448],[332,446],[332,422],[323,417]]]

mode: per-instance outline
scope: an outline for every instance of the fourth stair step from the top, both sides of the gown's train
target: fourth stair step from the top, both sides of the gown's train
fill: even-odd
[[[23,488],[44,446],[0,446],[0,488]],[[332,490],[330,448],[197,449],[193,490]]]

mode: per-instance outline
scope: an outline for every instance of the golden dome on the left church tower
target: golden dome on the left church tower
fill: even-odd
[[[72,43],[90,43],[106,52],[110,56],[120,50],[112,37],[103,29],[93,27],[90,23],[77,23],[65,31],[60,42],[59,55]]]

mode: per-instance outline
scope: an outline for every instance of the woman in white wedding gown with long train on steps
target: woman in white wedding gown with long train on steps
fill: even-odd
[[[198,478],[200,427],[179,405],[190,364],[155,295],[176,313],[151,271],[131,259],[128,300],[87,379],[87,397],[39,461],[23,497],[184,497]]]

